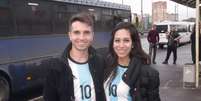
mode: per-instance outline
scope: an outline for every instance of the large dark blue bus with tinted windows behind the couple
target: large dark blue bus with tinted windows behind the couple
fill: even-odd
[[[107,46],[112,28],[131,17],[130,11],[120,9],[50,0],[8,1],[6,7],[0,6],[0,68],[10,75],[14,92],[42,85],[47,69],[40,64],[60,55],[69,43],[67,21],[72,14],[95,9],[91,13],[95,16],[96,48]]]

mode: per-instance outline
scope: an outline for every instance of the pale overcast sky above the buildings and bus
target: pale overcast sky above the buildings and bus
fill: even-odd
[[[114,3],[120,3],[130,5],[131,12],[141,14],[141,0],[102,0]],[[156,1],[166,1],[167,2],[167,12],[175,13],[175,8],[177,8],[176,12],[179,14],[179,20],[195,17],[195,8],[190,8],[187,6],[183,6],[181,4],[175,3],[170,0],[143,0],[143,13],[150,14],[152,13],[152,2]],[[176,7],[175,7],[176,6]]]

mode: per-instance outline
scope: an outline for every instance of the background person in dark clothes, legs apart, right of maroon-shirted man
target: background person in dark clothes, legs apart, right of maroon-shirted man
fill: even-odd
[[[172,29],[169,33],[167,32],[167,39],[168,39],[167,54],[166,54],[165,61],[162,62],[163,64],[168,64],[168,60],[169,60],[171,52],[173,52],[173,64],[176,64],[177,46],[178,46],[178,42],[179,42],[180,38],[181,38],[181,36],[176,31],[175,27],[172,27]]]

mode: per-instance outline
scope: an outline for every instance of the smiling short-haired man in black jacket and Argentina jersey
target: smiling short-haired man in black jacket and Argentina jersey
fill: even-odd
[[[104,61],[91,46],[93,23],[88,13],[78,13],[70,19],[70,43],[61,58],[49,62],[45,101],[105,101]]]

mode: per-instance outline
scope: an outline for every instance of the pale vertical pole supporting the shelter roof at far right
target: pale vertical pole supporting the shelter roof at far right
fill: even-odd
[[[199,20],[200,20],[200,12],[199,12],[199,0],[196,0],[196,35],[195,35],[195,53],[196,53],[196,61],[195,61],[195,67],[196,67],[196,88],[199,86]]]

